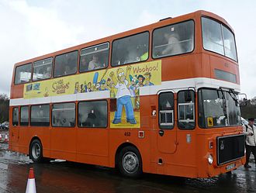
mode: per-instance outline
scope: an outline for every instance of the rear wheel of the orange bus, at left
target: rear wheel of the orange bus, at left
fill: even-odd
[[[29,157],[33,162],[40,163],[43,161],[43,146],[40,140],[33,140],[29,147]]]

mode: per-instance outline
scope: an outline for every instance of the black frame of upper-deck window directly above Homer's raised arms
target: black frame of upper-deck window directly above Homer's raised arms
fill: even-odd
[[[123,36],[123,37],[119,37],[119,38],[117,38],[117,39],[115,39],[115,40],[112,40],[112,43],[111,43],[111,54],[109,54],[109,55],[111,55],[111,56],[109,56],[109,57],[110,57],[110,66],[111,66],[111,67],[121,67],[121,66],[125,66],[125,65],[131,65],[131,64],[137,64],[137,63],[147,62],[147,60],[143,60],[143,61],[136,61],[136,62],[133,62],[133,63],[119,64],[119,65],[116,65],[116,66],[113,66],[113,65],[112,65],[113,43],[114,43],[116,40],[122,40],[122,39],[124,39],[124,38],[126,38],[126,37],[136,36],[136,35],[138,35],[138,34],[140,34],[140,33],[148,33],[148,45],[147,45],[147,52],[148,52],[148,54],[147,54],[147,60],[150,58],[150,31],[149,31],[149,30],[146,30],[146,31],[143,31],[143,32],[133,33],[133,34],[131,34],[131,35],[129,35],[129,36]]]

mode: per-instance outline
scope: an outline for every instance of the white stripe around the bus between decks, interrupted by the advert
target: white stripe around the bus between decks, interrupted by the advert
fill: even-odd
[[[180,90],[193,87],[196,90],[198,88],[208,87],[208,88],[234,88],[234,91],[240,92],[240,85],[234,84],[227,81],[220,81],[212,78],[188,78],[176,81],[163,81],[161,85],[153,85],[140,87],[140,96],[145,95],[157,95],[159,91],[164,91],[170,89],[171,91],[178,92]],[[97,100],[110,98],[109,91],[94,91],[85,92],[72,95],[60,95],[51,96],[43,98],[15,98],[10,99],[10,106],[16,105],[36,105],[36,104],[49,104],[56,102],[75,102],[75,101],[87,101],[87,100]]]

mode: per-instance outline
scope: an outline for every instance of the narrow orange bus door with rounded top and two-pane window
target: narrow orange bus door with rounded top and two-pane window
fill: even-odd
[[[157,146],[160,153],[174,153],[176,132],[174,129],[175,96],[171,91],[160,92],[158,96]]]

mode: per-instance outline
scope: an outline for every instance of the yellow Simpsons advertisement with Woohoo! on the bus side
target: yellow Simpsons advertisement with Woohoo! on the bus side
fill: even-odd
[[[140,128],[140,95],[147,95],[160,84],[161,60],[155,60],[24,84],[23,97],[74,95],[83,101],[107,100],[108,108],[104,111],[109,114],[110,128]],[[103,109],[95,112],[96,122],[106,114]]]

